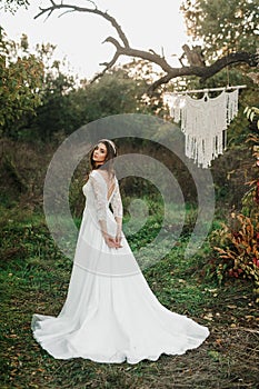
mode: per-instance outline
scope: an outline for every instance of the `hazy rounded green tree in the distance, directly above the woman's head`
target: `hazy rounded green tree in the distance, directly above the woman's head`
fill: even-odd
[[[80,87],[70,88],[63,96],[58,90],[52,94],[48,92],[34,119],[41,138],[44,138],[46,129],[49,134],[71,133],[80,126],[107,116],[151,112],[153,106],[147,106],[142,99],[147,82],[129,74],[131,69],[130,64],[113,68],[94,83],[81,80]],[[57,82],[54,80],[56,86]]]

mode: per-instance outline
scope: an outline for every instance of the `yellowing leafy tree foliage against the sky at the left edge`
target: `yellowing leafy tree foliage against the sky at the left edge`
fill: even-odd
[[[21,43],[0,37],[0,133],[22,118],[33,113],[41,103],[39,93],[43,82],[43,63],[27,50],[27,37]]]

